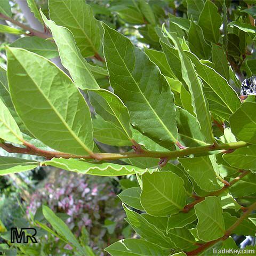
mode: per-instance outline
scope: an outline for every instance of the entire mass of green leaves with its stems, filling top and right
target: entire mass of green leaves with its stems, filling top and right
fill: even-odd
[[[195,255],[255,235],[255,95],[242,103],[233,89],[253,73],[254,1],[118,1],[103,11],[49,0],[48,19],[29,0],[45,33],[15,22],[2,2],[0,17],[31,37],[6,47],[0,146],[46,157],[1,157],[2,175],[38,165],[136,174],[119,198],[140,239],[110,245],[111,255]],[[114,29],[121,22],[143,49]],[[99,142],[128,151],[103,153]]]

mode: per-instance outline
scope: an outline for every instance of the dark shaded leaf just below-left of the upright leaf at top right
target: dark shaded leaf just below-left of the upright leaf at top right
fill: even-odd
[[[210,59],[211,47],[206,43],[203,30],[193,20],[188,30],[189,48],[199,59]]]

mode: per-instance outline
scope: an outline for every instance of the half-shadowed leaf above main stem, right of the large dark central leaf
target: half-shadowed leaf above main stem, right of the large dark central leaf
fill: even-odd
[[[196,118],[185,109],[176,107],[178,140],[187,147],[207,145]]]

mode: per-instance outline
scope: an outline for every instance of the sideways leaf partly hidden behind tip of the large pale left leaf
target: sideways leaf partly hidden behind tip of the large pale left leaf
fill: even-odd
[[[59,55],[57,47],[53,42],[36,36],[21,37],[10,44],[10,46],[26,49],[47,59],[52,59]]]

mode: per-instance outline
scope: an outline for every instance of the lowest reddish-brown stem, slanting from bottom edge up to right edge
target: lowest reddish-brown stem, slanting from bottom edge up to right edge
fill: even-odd
[[[202,253],[202,252],[205,251],[207,248],[209,248],[210,246],[212,246],[212,245],[218,243],[219,241],[221,241],[221,240],[222,240],[222,241],[226,240],[226,239],[230,236],[230,234],[232,234],[232,232],[235,230],[235,228],[236,228],[237,226],[239,226],[239,225],[241,224],[241,222],[242,222],[245,218],[247,218],[247,217],[250,215],[250,213],[252,213],[252,211],[255,210],[255,209],[256,209],[256,202],[253,203],[252,205],[250,205],[250,206],[247,208],[247,210],[242,214],[242,216],[241,216],[228,230],[226,230],[225,235],[223,235],[222,237],[220,237],[220,238],[218,238],[218,239],[216,239],[216,240],[207,242],[207,243],[205,243],[205,244],[199,246],[197,249],[195,249],[195,250],[193,250],[193,251],[186,252],[186,254],[187,254],[188,256],[190,256],[190,255],[191,255],[191,256],[192,256],[192,255],[198,255],[199,253]]]

